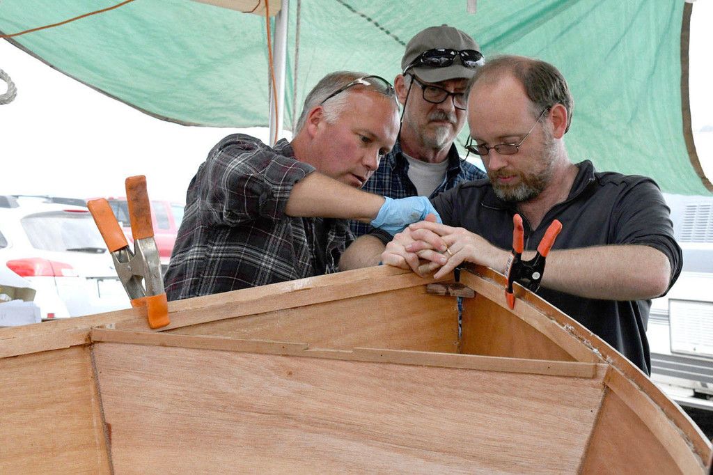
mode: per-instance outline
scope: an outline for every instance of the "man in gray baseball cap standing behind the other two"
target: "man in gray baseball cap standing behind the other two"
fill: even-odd
[[[480,46],[452,26],[431,26],[409,41],[394,79],[404,106],[399,140],[364,190],[389,198],[434,197],[462,181],[486,177],[461,160],[453,145],[466,122],[468,79],[482,65]],[[357,221],[351,228],[356,237],[371,231]]]

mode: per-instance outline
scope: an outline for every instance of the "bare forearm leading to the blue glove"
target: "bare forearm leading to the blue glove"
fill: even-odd
[[[379,214],[384,197],[356,190],[314,172],[299,180],[287,200],[285,214],[353,219],[369,223]]]

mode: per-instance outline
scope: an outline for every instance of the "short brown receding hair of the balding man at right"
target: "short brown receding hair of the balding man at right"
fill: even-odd
[[[468,81],[468,96],[471,89],[480,80],[496,81],[498,78],[511,74],[525,88],[528,98],[533,103],[533,114],[537,115],[544,108],[562,104],[567,109],[567,128],[572,123],[572,113],[575,101],[564,76],[550,63],[525,56],[503,55],[486,61],[476,71],[475,76]]]

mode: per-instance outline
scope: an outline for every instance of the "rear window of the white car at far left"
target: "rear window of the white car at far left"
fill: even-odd
[[[88,212],[53,211],[21,219],[35,249],[50,251],[104,252],[106,245]]]

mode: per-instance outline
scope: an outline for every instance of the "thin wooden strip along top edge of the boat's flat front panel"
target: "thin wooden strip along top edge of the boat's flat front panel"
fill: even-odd
[[[459,369],[480,369],[483,371],[496,372],[547,374],[550,376],[588,379],[597,375],[597,369],[603,371],[603,368],[606,366],[603,364],[597,365],[588,362],[563,362],[548,361],[544,359],[487,357],[476,354],[416,352],[400,349],[322,349],[309,348],[309,345],[304,343],[271,342],[254,339],[232,339],[225,337],[195,336],[173,333],[130,332],[126,330],[111,330],[103,328],[92,330],[91,339],[93,342],[217,349],[222,351],[280,354],[361,362],[411,364],[418,366]],[[601,368],[599,368],[600,366]]]

